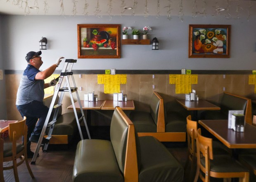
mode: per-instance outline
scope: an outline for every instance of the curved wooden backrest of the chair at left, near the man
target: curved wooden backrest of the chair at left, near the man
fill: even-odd
[[[9,140],[15,141],[18,140],[21,136],[24,136],[24,139],[27,135],[27,126],[26,126],[26,117],[23,120],[9,123]],[[26,140],[25,140],[26,141]]]

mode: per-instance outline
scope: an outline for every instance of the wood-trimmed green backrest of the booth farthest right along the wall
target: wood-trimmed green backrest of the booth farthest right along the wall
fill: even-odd
[[[220,112],[225,115],[228,115],[229,110],[244,110],[245,121],[252,124],[251,99],[224,92],[220,107]]]

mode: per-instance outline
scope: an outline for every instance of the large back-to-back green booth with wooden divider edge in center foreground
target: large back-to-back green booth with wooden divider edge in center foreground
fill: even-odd
[[[73,182],[183,181],[182,165],[156,138],[138,137],[120,107],[111,119],[110,138],[78,143]]]

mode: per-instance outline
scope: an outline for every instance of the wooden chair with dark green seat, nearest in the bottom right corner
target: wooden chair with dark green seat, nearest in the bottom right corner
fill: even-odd
[[[194,182],[197,182],[198,177],[203,182],[210,182],[210,177],[224,178],[225,180],[239,177],[239,182],[249,182],[249,170],[229,155],[213,157],[212,139],[203,137],[199,128],[197,130],[197,173]]]

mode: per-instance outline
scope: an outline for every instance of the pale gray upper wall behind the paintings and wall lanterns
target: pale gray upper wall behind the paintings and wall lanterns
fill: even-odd
[[[240,19],[225,19],[224,16],[184,17],[171,21],[166,16],[23,16],[0,15],[0,69],[24,70],[28,51],[38,51],[41,37],[48,40],[47,50],[43,50],[41,69],[55,63],[56,58],[77,59],[77,24],[121,24],[142,29],[151,26],[150,39],[159,40],[158,51],[151,45],[121,45],[120,59],[78,59],[74,70],[256,70],[256,7],[251,9],[251,17],[240,15]],[[231,25],[230,58],[188,58],[189,24]],[[132,35],[130,35],[131,38]],[[61,69],[63,63],[60,65]],[[5,96],[5,84],[0,80],[0,94]],[[0,119],[6,117],[5,99],[0,101]]]

